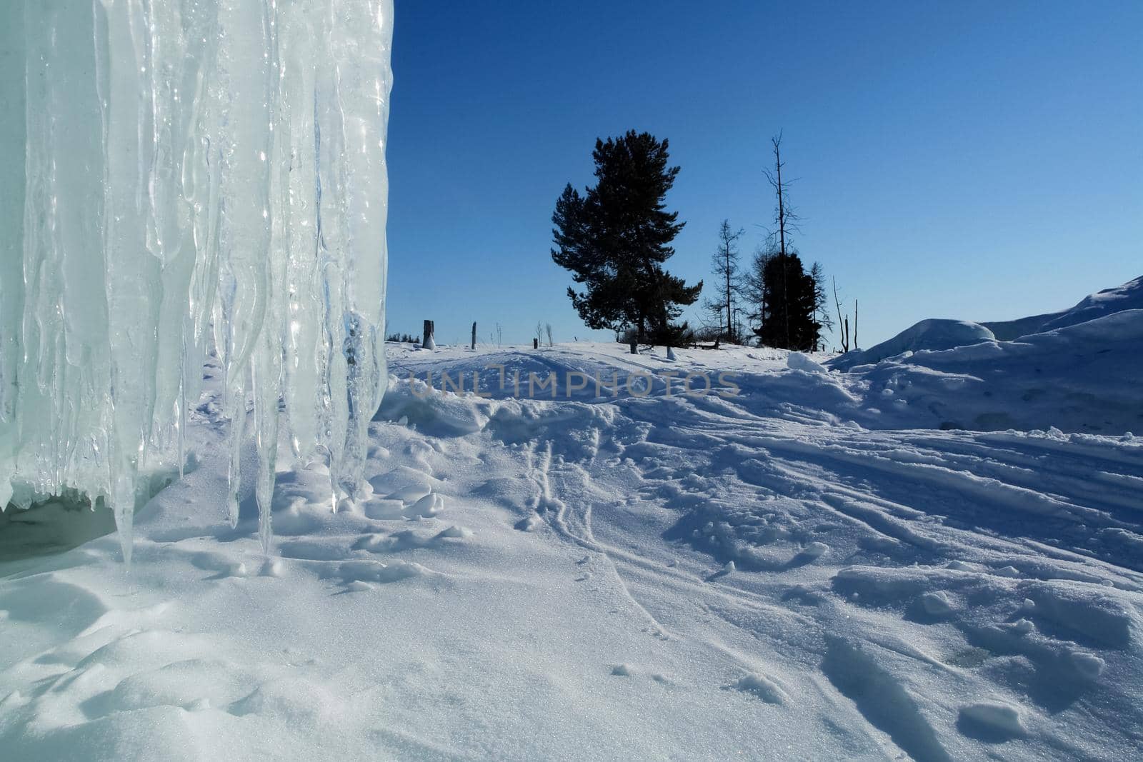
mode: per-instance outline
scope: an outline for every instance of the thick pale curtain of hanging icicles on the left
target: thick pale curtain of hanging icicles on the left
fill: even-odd
[[[129,561],[216,351],[269,551],[279,424],[336,504],[387,377],[392,0],[0,5],[0,507],[103,498]]]

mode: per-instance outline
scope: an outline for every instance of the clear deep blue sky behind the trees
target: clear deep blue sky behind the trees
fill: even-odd
[[[551,212],[631,128],[670,138],[669,267],[708,284],[724,217],[744,257],[764,238],[784,130],[796,244],[861,299],[864,346],[1143,274],[1135,0],[397,0],[393,69],[390,330],[610,340],[567,299]]]

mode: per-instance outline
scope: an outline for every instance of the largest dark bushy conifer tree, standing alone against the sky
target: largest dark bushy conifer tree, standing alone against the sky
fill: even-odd
[[[555,201],[552,259],[583,284],[568,296],[589,328],[634,327],[640,342],[677,346],[687,329],[673,321],[703,284],[687,286],[663,266],[685,224],[666,210],[679,174],[668,166],[668,141],[634,130],[596,141],[596,185],[581,195],[568,184]]]

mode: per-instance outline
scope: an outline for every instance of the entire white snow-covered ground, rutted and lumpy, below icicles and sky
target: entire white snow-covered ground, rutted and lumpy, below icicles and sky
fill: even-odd
[[[279,473],[271,559],[208,384],[129,570],[5,514],[0,757],[1135,759],[1141,348],[390,345],[373,497]]]

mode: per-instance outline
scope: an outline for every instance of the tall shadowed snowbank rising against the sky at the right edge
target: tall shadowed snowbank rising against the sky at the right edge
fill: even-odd
[[[988,326],[1008,336],[998,339]],[[1143,278],[1076,307],[1009,323],[926,320],[829,361],[871,428],[1143,431]],[[876,400],[881,398],[880,402]]]

